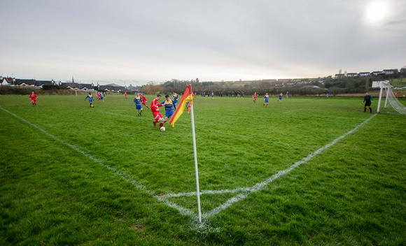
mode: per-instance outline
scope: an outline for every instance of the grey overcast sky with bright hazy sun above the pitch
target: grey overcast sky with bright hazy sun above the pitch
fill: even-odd
[[[142,85],[406,65],[404,0],[3,0],[0,16],[0,74],[15,78]]]

